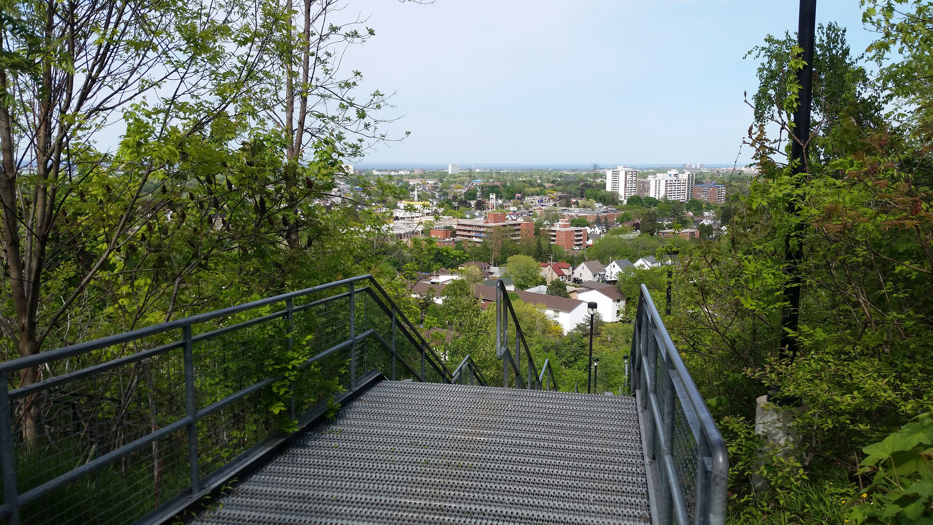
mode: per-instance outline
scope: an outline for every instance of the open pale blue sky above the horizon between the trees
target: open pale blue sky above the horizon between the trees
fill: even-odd
[[[351,0],[376,36],[343,66],[395,92],[366,162],[730,163],[756,89],[745,52],[797,28],[791,0]],[[817,21],[870,42],[857,0]],[[740,163],[748,161],[743,149]]]

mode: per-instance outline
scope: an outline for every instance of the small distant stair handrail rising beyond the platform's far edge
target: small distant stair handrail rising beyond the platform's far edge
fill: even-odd
[[[512,322],[515,324],[515,355],[508,350],[508,317],[511,315]],[[522,348],[525,351],[525,358],[528,360],[528,378],[522,380]],[[544,361],[544,366],[538,373],[535,366],[535,358],[528,349],[528,343],[525,341],[522,325],[519,324],[519,318],[515,314],[515,308],[512,307],[512,301],[508,298],[506,283],[498,280],[495,283],[495,356],[502,359],[502,383],[508,388],[508,368],[511,366],[515,371],[515,386],[528,390],[543,390],[544,373],[548,372],[548,390],[557,390],[557,380],[554,379],[554,372],[550,367],[550,360]],[[553,387],[551,389],[551,386]]]

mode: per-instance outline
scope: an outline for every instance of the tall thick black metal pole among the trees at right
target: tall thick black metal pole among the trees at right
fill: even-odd
[[[794,113],[794,130],[790,147],[790,164],[795,175],[808,173],[809,159],[807,143],[810,140],[810,110],[813,102],[814,81],[814,40],[816,34],[816,0],[801,0],[800,21],[797,30],[797,45],[803,49],[801,59],[806,64],[797,72],[797,81],[801,84],[800,104]],[[797,177],[795,177],[797,178]],[[787,203],[787,214],[796,216],[798,203],[791,199]],[[781,357],[797,356],[799,349],[796,334],[801,320],[801,285],[800,263],[803,258],[803,246],[799,234],[801,225],[794,225],[787,233],[784,243],[784,258],[787,261],[789,282],[785,291],[787,306],[781,312]]]

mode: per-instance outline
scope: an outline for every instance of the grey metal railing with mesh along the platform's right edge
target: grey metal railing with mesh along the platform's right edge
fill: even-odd
[[[631,361],[652,521],[722,525],[729,452],[645,284]]]

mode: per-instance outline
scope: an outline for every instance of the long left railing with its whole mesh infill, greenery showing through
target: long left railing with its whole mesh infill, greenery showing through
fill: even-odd
[[[160,522],[373,369],[453,381],[371,275],[0,363],[0,517]]]

